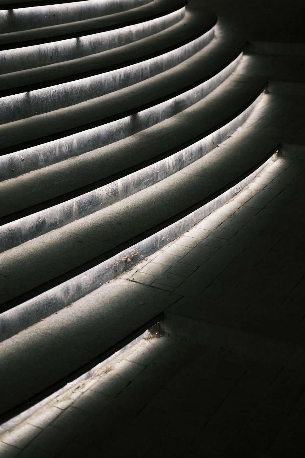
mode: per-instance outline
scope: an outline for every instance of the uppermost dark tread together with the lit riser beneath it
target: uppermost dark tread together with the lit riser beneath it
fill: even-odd
[[[183,3],[159,0],[95,20],[3,34],[1,57],[6,73],[74,60],[161,32],[181,21],[184,13]]]

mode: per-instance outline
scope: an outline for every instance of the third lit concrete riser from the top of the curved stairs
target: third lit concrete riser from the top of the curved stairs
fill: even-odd
[[[187,44],[153,58],[98,75],[2,97],[0,123],[48,113],[132,86],[187,60],[209,44],[213,37],[214,26]]]

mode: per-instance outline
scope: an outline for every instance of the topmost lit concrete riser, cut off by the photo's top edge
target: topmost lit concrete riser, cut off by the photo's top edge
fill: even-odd
[[[1,33],[84,21],[150,3],[151,0],[87,0],[0,11]],[[37,2],[38,3],[38,2]]]

